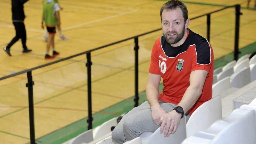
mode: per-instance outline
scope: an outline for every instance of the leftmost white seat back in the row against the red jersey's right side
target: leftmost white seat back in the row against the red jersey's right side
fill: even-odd
[[[231,86],[230,86],[230,78],[229,77],[226,77],[226,78],[218,81],[217,83],[215,83],[212,86],[212,97],[215,97],[216,95],[229,89],[230,87]]]

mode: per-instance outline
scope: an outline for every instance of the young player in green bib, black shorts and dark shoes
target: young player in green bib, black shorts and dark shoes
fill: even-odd
[[[61,25],[60,20],[60,7],[58,3],[54,0],[45,0],[43,1],[43,15],[42,15],[42,29],[44,29],[44,22],[49,33],[49,39],[47,40],[46,45],[46,54],[45,59],[52,59],[55,56],[59,55],[59,53],[55,50],[54,44],[54,36],[56,33],[56,26]],[[53,54],[52,56],[49,55],[50,47],[52,46]]]

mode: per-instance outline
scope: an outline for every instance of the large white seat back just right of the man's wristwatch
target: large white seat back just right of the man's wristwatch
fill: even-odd
[[[216,96],[199,106],[189,118],[187,137],[206,130],[216,120],[222,119],[221,97]]]

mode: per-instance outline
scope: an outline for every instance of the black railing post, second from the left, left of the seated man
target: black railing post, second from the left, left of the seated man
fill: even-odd
[[[87,58],[87,91],[88,91],[88,130],[93,129],[93,116],[92,116],[92,80],[91,80],[91,53],[86,54]]]

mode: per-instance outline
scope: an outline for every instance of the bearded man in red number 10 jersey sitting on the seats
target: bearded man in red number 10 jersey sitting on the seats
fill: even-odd
[[[117,143],[159,127],[164,137],[174,134],[184,114],[188,120],[195,109],[212,97],[213,50],[205,38],[188,29],[186,6],[181,1],[168,1],[160,16],[163,36],[152,49],[147,101],[124,115],[112,131],[112,139]],[[159,95],[161,78],[164,88]]]

